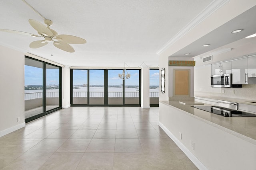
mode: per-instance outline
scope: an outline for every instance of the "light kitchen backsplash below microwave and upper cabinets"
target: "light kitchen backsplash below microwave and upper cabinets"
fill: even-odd
[[[197,96],[197,95],[200,96],[200,94],[202,94],[202,95],[209,95],[209,96],[256,100],[256,84],[243,84],[242,88],[221,88],[221,92],[222,90],[224,90],[224,93],[195,91],[194,96]]]

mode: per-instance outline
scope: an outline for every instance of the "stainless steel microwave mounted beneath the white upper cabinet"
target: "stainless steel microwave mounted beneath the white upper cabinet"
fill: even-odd
[[[232,74],[211,76],[211,87],[232,87]]]

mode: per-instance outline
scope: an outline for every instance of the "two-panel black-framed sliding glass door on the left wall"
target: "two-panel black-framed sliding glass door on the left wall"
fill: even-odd
[[[25,57],[25,122],[61,109],[62,68]]]

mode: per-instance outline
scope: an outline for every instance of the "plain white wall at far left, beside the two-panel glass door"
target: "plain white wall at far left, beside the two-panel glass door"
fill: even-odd
[[[0,136],[3,136],[25,126],[24,53],[0,46],[0,59]]]

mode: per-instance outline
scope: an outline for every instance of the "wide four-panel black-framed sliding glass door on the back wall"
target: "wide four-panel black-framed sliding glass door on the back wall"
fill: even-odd
[[[122,69],[71,69],[71,106],[140,106],[140,70],[127,71],[122,80]]]

